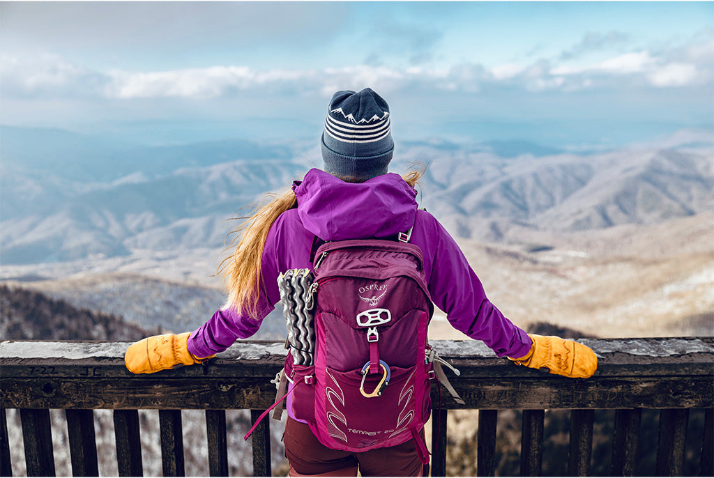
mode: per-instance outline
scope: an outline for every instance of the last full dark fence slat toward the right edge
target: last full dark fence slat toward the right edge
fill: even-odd
[[[686,408],[660,411],[656,469],[658,477],[682,476],[688,419],[689,409]]]

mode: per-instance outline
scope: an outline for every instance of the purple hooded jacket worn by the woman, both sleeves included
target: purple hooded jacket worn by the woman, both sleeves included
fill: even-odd
[[[310,251],[315,236],[322,240],[389,238],[414,226],[411,243],[421,248],[431,299],[446,312],[454,328],[491,347],[499,357],[523,357],[531,338],[486,298],[481,281],[461,249],[443,226],[425,210],[418,210],[416,191],[395,173],[365,183],[346,183],[329,173],[311,169],[293,183],[298,207],[273,223],[263,249],[261,317],[280,301],[278,273],[312,268]],[[188,338],[188,350],[208,357],[251,337],[262,320],[251,320],[235,310],[218,310]]]

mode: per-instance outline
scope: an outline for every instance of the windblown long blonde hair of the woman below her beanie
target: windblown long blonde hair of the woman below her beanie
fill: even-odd
[[[425,167],[414,169],[403,175],[402,178],[412,188],[416,188],[425,169]],[[266,238],[268,238],[268,232],[278,216],[286,210],[296,208],[297,205],[298,201],[292,190],[279,195],[268,193],[250,215],[238,218],[243,222],[229,234],[235,234],[236,237],[228,245],[228,249],[233,247],[236,240],[238,240],[238,245],[236,245],[235,252],[218,265],[218,273],[223,274],[228,293],[223,309],[233,308],[253,320],[260,320],[258,291],[263,282],[261,261]]]

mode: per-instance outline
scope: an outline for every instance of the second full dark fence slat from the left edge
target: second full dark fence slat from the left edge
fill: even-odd
[[[92,410],[66,409],[73,477],[99,477]]]

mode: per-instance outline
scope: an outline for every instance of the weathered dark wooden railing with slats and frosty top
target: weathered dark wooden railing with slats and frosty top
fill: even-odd
[[[498,410],[523,410],[521,474],[537,476],[543,461],[545,410],[570,413],[568,474],[590,474],[593,414],[615,412],[611,474],[631,476],[638,462],[643,409],[658,409],[659,437],[653,474],[681,476],[692,409],[704,409],[703,437],[690,455],[702,476],[712,476],[714,445],[714,338],[581,340],[599,357],[598,372],[572,380],[516,367],[481,342],[436,341],[433,347],[461,370],[451,375],[466,401],[457,405],[433,385],[433,476],[446,472],[448,409],[478,409],[479,476],[495,472]],[[275,398],[270,382],[286,350],[278,342],[237,342],[208,362],[151,375],[124,367],[124,342],[0,342],[0,472],[11,476],[6,409],[19,409],[28,476],[55,474],[50,409],[66,410],[74,476],[97,476],[93,410],[114,410],[120,476],[141,476],[138,410],[159,410],[164,476],[184,474],[181,410],[206,411],[207,471],[228,476],[226,410],[247,409],[255,419]],[[438,407],[441,402],[441,408]],[[253,474],[271,474],[270,420],[252,437]],[[476,424],[475,424],[476,425]],[[246,446],[248,446],[246,444]]]

